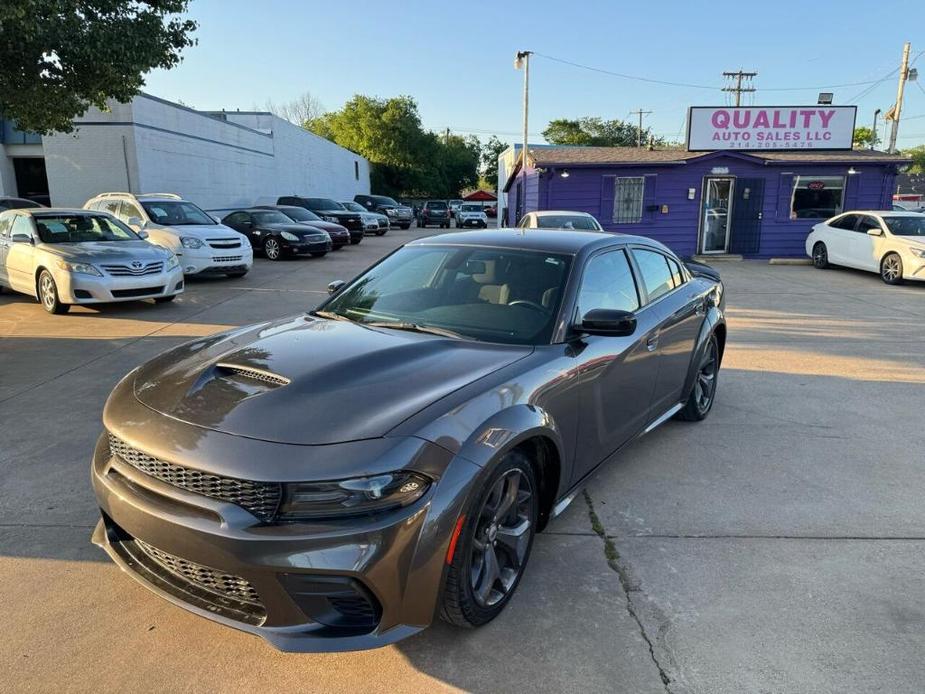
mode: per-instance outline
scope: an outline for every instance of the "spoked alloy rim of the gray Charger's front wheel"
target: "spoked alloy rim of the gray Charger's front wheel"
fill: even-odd
[[[495,482],[479,511],[469,575],[472,594],[482,607],[503,600],[523,570],[532,503],[530,481],[515,469]]]

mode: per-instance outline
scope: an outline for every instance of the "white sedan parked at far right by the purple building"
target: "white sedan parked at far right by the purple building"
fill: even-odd
[[[869,270],[887,284],[925,280],[925,215],[845,212],[813,227],[806,254],[817,268]]]

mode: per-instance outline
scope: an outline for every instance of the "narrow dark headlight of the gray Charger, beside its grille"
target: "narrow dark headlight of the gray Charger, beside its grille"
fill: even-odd
[[[376,513],[407,506],[429,487],[429,478],[407,470],[334,482],[293,482],[283,486],[277,516],[301,520]]]

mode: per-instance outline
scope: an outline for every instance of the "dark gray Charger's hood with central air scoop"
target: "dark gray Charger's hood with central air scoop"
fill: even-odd
[[[297,316],[181,345],[140,367],[134,388],[196,426],[332,444],[384,436],[532,351]]]

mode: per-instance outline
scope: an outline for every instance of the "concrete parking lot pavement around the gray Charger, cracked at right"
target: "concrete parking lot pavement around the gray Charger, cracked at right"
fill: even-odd
[[[437,233],[430,230],[426,233]],[[716,406],[601,470],[488,627],[282,654],[121,575],[89,535],[116,381],[179,342],[310,308],[403,241],[258,260],[172,305],[49,316],[0,295],[0,600],[8,691],[870,692],[925,677],[925,286],[718,265]]]

